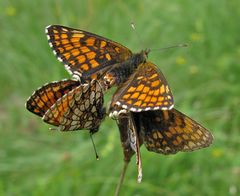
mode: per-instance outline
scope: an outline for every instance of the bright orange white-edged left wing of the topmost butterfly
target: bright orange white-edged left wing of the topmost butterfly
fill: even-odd
[[[78,78],[95,78],[97,72],[132,55],[121,44],[83,30],[50,25],[46,34],[58,60]]]

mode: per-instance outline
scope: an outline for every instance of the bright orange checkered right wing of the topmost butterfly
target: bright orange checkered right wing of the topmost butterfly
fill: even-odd
[[[157,66],[146,62],[114,94],[112,103],[132,112],[168,110],[173,107],[173,95]]]

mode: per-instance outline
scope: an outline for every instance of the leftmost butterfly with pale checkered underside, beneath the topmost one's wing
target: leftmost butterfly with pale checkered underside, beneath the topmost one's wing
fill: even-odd
[[[105,117],[103,90],[96,80],[89,84],[74,80],[51,82],[33,93],[26,108],[60,131],[96,132]]]

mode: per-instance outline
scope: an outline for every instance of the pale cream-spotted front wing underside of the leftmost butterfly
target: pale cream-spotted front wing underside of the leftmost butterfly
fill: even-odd
[[[104,117],[102,87],[93,80],[58,99],[44,114],[43,120],[58,126],[61,131],[97,130]]]

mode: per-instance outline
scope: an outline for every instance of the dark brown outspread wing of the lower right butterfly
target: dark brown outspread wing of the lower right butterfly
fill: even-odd
[[[134,113],[140,137],[149,151],[175,154],[193,151],[212,143],[211,133],[176,109]]]

